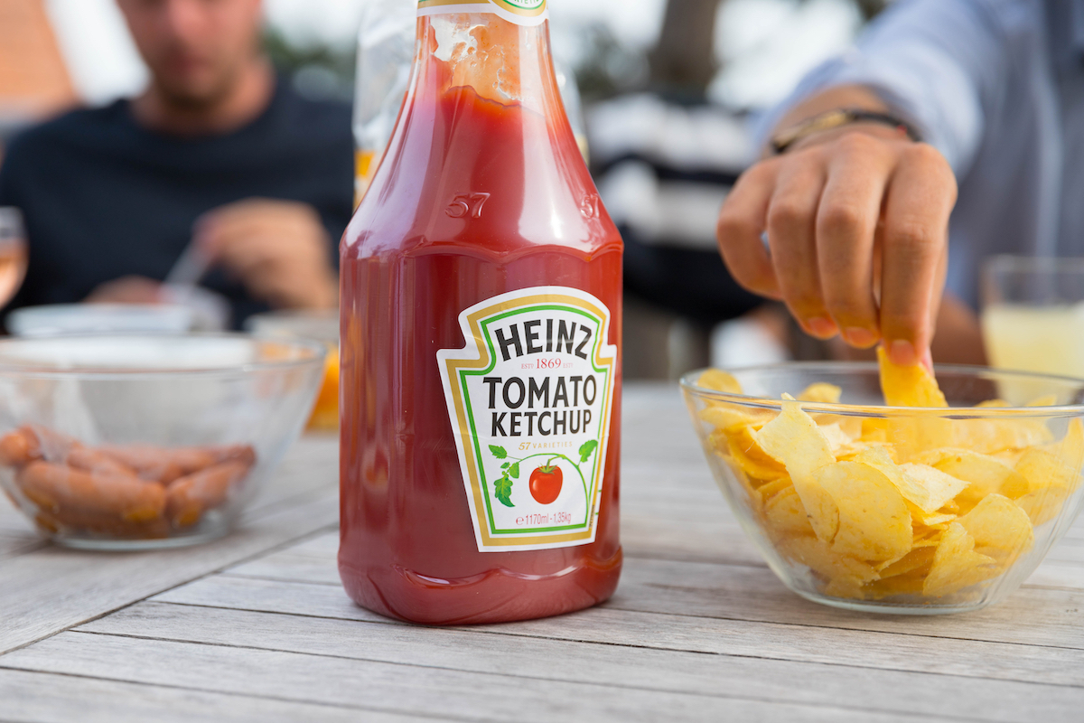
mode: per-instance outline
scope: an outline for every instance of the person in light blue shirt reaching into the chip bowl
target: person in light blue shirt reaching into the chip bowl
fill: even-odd
[[[1084,255],[1084,1],[899,0],[765,127],[720,248],[816,337],[983,363],[983,257]]]

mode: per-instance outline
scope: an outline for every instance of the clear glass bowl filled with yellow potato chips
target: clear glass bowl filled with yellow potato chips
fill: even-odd
[[[1012,593],[1081,508],[1084,380],[810,362],[682,379],[708,463],[779,579],[896,614]],[[793,396],[791,396],[793,395]]]

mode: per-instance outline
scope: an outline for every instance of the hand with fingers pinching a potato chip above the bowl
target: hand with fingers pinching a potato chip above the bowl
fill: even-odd
[[[893,362],[928,363],[955,202],[955,176],[932,146],[848,126],[749,168],[717,233],[734,279],[785,301],[812,336],[883,340]]]

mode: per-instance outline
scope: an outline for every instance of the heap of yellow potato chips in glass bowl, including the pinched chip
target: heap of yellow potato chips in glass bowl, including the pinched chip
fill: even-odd
[[[748,499],[763,538],[821,595],[966,607],[1042,547],[1036,528],[1081,483],[1084,424],[1048,427],[1051,415],[994,395],[981,414],[938,411],[949,404],[930,370],[893,364],[882,348],[878,361],[885,405],[913,413],[864,404],[860,414],[827,383],[771,409],[717,396],[696,413],[707,452],[740,480],[734,494]],[[718,370],[698,386],[743,393]]]

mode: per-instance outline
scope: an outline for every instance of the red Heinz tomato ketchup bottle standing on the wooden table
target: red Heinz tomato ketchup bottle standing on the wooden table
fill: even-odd
[[[588,607],[621,571],[621,238],[544,0],[423,0],[417,38],[341,245],[339,572],[424,623]]]

